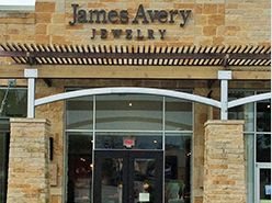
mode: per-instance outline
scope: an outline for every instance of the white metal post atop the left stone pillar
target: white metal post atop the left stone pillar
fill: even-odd
[[[24,69],[24,77],[27,78],[27,117],[35,117],[35,78],[37,69]]]

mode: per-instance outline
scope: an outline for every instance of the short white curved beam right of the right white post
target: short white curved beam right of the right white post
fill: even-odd
[[[268,100],[268,99],[271,99],[271,92],[260,93],[260,94],[257,94],[257,95],[250,95],[250,97],[247,97],[247,98],[241,98],[241,99],[228,102],[228,109],[235,108],[235,106],[238,106],[238,105],[243,105],[243,104],[251,103],[251,102]]]

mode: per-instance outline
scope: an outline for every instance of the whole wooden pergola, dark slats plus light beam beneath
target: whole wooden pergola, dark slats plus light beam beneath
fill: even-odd
[[[0,44],[0,78],[24,78],[35,68],[50,86],[54,78],[217,79],[229,69],[233,79],[269,80],[270,46],[94,46]]]

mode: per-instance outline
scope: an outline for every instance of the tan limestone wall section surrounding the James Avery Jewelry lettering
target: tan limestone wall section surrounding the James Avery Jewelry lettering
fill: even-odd
[[[127,10],[131,20],[138,5],[145,10],[191,10],[185,26],[180,27],[180,19],[174,23],[159,23],[158,20],[143,24],[90,24],[69,25],[72,21],[71,3],[79,9],[105,11]],[[35,11],[0,12],[0,43],[37,44],[88,44],[88,45],[270,45],[270,0],[36,0]],[[150,19],[148,19],[150,21]],[[168,19],[169,20],[169,19]],[[155,31],[155,38],[141,41],[120,38],[109,35],[106,40],[91,40],[92,30],[139,29],[146,35],[148,29]],[[165,40],[158,37],[159,29],[167,30]]]

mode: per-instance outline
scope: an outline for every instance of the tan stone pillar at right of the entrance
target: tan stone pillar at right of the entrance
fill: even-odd
[[[207,121],[204,203],[246,203],[243,121]]]

